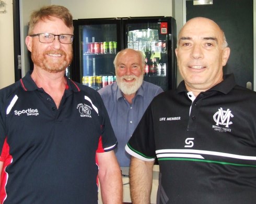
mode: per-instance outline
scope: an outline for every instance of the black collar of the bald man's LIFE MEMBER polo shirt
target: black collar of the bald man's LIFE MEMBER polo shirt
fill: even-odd
[[[224,94],[228,94],[232,90],[232,88],[234,88],[236,86],[235,77],[234,77],[234,74],[227,74],[227,75],[224,75],[223,78],[224,78],[224,80],[222,82],[216,84],[215,86],[213,86],[206,92],[217,91],[217,92],[222,92]],[[187,93],[188,92],[185,87],[184,81],[182,81],[179,84],[177,90],[178,90],[178,93],[181,93],[181,92]]]

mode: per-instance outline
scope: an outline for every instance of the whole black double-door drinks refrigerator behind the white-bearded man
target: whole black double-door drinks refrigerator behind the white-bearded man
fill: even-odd
[[[172,17],[74,20],[74,60],[67,69],[73,80],[95,90],[115,81],[114,57],[124,48],[145,56],[144,80],[176,87],[176,21]]]

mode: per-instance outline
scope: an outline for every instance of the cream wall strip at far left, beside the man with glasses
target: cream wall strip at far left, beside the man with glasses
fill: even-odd
[[[0,14],[0,88],[14,83],[13,0],[4,2],[6,13]]]

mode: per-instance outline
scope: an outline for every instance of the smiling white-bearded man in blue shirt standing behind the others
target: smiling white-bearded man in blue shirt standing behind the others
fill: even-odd
[[[129,167],[130,155],[124,150],[143,113],[152,99],[162,88],[143,81],[145,58],[134,49],[121,50],[114,59],[117,82],[104,88],[100,93],[118,139],[115,149],[120,167]]]

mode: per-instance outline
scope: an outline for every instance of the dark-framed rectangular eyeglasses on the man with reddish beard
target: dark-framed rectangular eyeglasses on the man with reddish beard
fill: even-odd
[[[61,35],[54,35],[52,33],[38,33],[29,35],[31,37],[38,36],[39,42],[41,43],[52,43],[55,39],[55,36],[58,36],[60,43],[62,44],[71,44],[74,39],[74,35],[71,34],[61,34]]]

